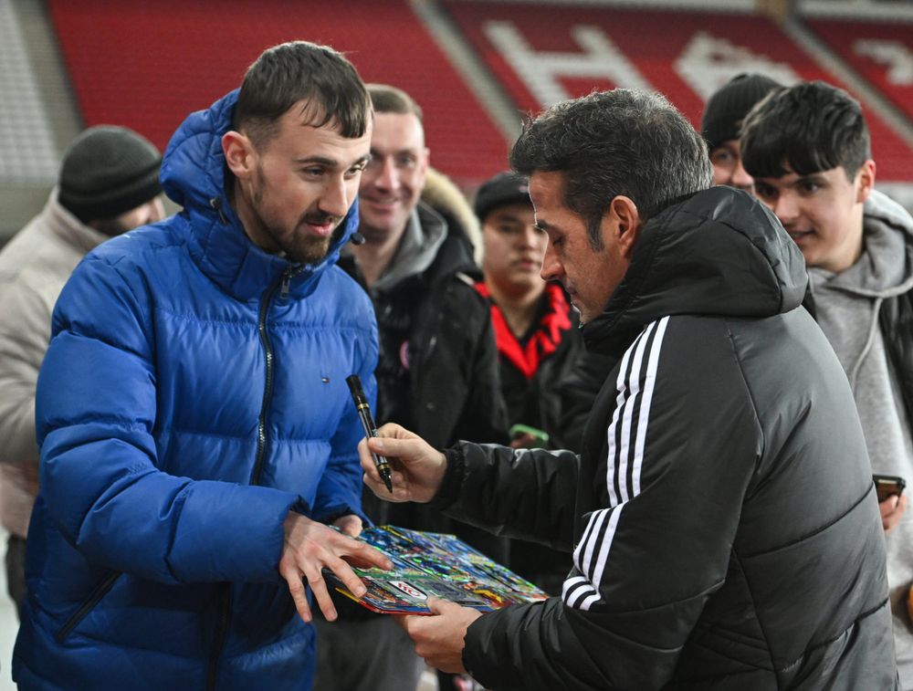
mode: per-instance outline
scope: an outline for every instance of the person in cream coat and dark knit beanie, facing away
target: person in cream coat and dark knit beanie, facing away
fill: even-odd
[[[51,311],[79,260],[110,236],[164,216],[162,155],[123,127],[89,128],[69,146],[44,210],[0,252],[0,518],[6,587],[21,610],[26,532],[38,491],[35,385]]]

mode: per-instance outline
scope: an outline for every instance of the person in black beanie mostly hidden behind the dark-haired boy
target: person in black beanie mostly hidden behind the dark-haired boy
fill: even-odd
[[[713,163],[713,183],[751,190],[754,181],[741,163],[741,121],[755,103],[782,87],[762,74],[742,73],[724,84],[707,100],[700,119],[700,133],[707,141]]]

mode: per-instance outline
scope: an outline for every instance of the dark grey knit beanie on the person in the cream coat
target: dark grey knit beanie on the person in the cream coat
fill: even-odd
[[[64,154],[58,200],[83,223],[114,218],[162,194],[162,154],[124,127],[82,132]]]

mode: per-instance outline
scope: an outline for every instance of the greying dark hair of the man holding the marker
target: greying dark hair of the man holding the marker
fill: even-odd
[[[527,176],[564,173],[564,204],[586,220],[594,249],[619,194],[647,220],[713,180],[707,144],[685,116],[662,95],[635,89],[594,92],[528,118],[510,165]]]

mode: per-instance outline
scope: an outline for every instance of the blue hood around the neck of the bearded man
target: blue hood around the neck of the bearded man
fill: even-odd
[[[294,274],[289,294],[304,297],[314,288],[320,273],[336,263],[341,246],[357,230],[358,204],[352,204],[333,234],[327,256],[317,264],[297,265],[254,245],[228,204],[226,193],[222,136],[231,129],[236,101],[237,89],[184,120],[165,150],[163,189],[173,202],[184,207],[191,256],[221,288],[238,299],[248,300],[259,297],[283,274]]]

